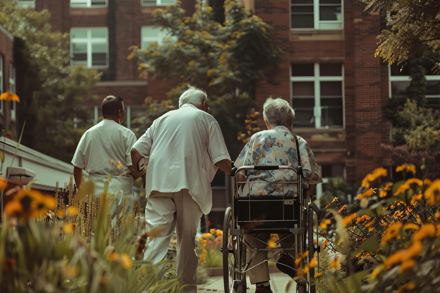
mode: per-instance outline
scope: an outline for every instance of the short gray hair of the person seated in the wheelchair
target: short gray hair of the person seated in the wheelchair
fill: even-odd
[[[263,104],[263,118],[273,128],[276,126],[291,127],[290,119],[295,118],[295,111],[281,97],[269,97]]]

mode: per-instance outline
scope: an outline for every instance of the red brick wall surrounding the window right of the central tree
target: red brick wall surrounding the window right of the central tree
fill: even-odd
[[[256,85],[259,110],[270,95],[290,101],[291,64],[341,62],[345,129],[294,129],[294,133],[308,141],[319,164],[345,165],[348,180],[359,182],[367,172],[386,164],[381,144],[389,143],[390,125],[385,118],[388,71],[380,58],[374,58],[380,16],[363,12],[358,0],[345,0],[345,29],[293,31],[290,1],[249,0],[245,4],[274,28],[274,40],[284,51],[278,68],[267,69],[267,79]],[[262,117],[259,124],[264,127]]]

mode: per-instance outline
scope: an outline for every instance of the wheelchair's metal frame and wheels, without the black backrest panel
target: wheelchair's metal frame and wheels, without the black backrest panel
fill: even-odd
[[[246,181],[246,182],[238,182],[238,174],[241,170],[284,170],[290,169],[293,170],[297,174],[297,181]],[[254,183],[282,183],[283,184],[283,195],[282,199],[264,199],[262,201],[265,202],[274,202],[274,201],[283,201],[283,213],[282,220],[257,220],[251,221],[251,211],[250,204],[251,202],[259,202],[258,196],[255,196],[255,199],[251,199],[249,196],[249,221],[238,221],[238,203],[243,202],[246,199],[239,200],[238,196],[238,184],[254,184]],[[286,203],[286,201],[290,201],[290,199],[284,199],[284,184],[297,184],[297,195],[293,195],[293,220],[284,220],[285,212],[284,205],[290,204]],[[282,253],[288,250],[294,250],[295,259],[298,259],[305,251],[308,250],[308,258],[306,262],[306,258],[304,257],[297,268],[293,268],[297,271],[301,268],[301,271],[304,271],[305,266],[308,266],[308,263],[314,257],[315,251],[318,253],[318,272],[319,272],[319,235],[318,235],[318,221],[321,215],[321,210],[319,210],[318,206],[315,203],[309,201],[309,199],[304,195],[302,188],[302,168],[299,166],[295,168],[293,166],[269,166],[269,165],[260,165],[260,166],[242,166],[240,168],[233,167],[231,170],[231,207],[228,207],[225,211],[224,215],[224,228],[223,228],[223,278],[224,278],[224,289],[225,292],[229,293],[245,293],[246,289],[249,289],[246,285],[246,272],[249,270],[263,264],[264,262],[275,262],[281,264],[275,260],[271,260],[270,258],[277,253]],[[296,210],[295,210],[295,201],[296,201]],[[296,213],[296,214],[295,214]],[[313,231],[313,214],[316,214],[316,247],[314,244],[314,231]],[[296,217],[295,217],[296,215]],[[256,223],[252,223],[256,222]],[[246,224],[250,223],[251,228],[246,228]],[[240,227],[239,224],[245,224],[245,228]],[[258,228],[260,224],[260,228]],[[266,225],[263,227],[263,225]],[[282,228],[279,228],[281,225]],[[253,226],[253,227],[252,227]],[[250,246],[248,242],[245,240],[245,235],[249,235],[255,238],[250,234],[257,233],[291,233],[294,235],[295,244],[293,247],[277,247],[277,248],[254,248]],[[286,236],[287,238],[289,236]],[[283,238],[283,239],[285,239]],[[308,245],[306,245],[306,239],[309,239]],[[276,244],[281,242],[283,239],[279,239]],[[257,239],[260,242],[260,239]],[[264,242],[266,243],[266,242]],[[267,243],[266,243],[267,244]],[[250,257],[249,262],[246,263],[246,252],[249,250],[254,250],[253,255]],[[270,257],[266,258],[264,261],[250,267],[250,262],[255,257],[258,251],[268,251],[274,250]],[[281,264],[285,265],[285,264]],[[286,265],[285,265],[286,266]],[[289,267],[289,266],[288,266]],[[307,277],[307,273],[300,274],[300,279],[297,282],[297,293],[315,293],[315,267],[309,268],[309,277]],[[264,281],[264,280],[263,280]]]

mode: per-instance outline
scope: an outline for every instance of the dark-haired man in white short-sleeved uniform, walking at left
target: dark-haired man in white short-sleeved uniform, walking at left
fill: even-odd
[[[81,137],[77,150],[72,159],[73,175],[77,186],[81,184],[82,170],[89,174],[88,179],[95,181],[95,195],[104,192],[104,180],[112,172],[112,166],[118,162],[119,168],[114,168],[108,193],[118,192],[119,212],[122,213],[122,203],[126,196],[126,211],[133,206],[132,159],[130,150],[136,142],[135,134],[121,125],[124,119],[124,100],[121,97],[107,96],[102,104],[103,120],[88,129]],[[115,176],[121,175],[121,176]],[[115,205],[111,206],[114,212]],[[127,213],[126,213],[127,214]]]

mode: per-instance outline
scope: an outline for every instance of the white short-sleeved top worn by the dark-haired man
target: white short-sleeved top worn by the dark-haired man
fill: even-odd
[[[72,159],[73,166],[86,170],[89,178],[95,180],[95,192],[103,192],[103,180],[110,175],[110,159],[121,161],[121,170],[115,169],[119,174],[128,171],[127,166],[132,165],[130,150],[136,142],[135,134],[127,127],[114,120],[104,119],[88,129],[81,137],[77,150]],[[98,188],[98,190],[96,190]],[[114,176],[110,180],[110,193],[122,190],[125,195],[133,193],[133,177]]]

